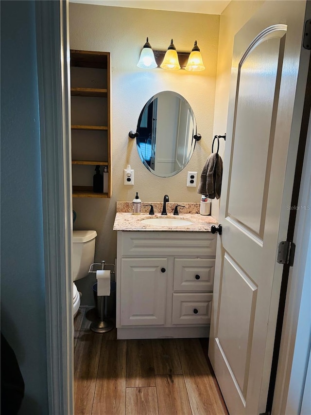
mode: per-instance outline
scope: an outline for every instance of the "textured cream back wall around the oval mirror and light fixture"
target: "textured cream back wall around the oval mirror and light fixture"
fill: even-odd
[[[168,194],[171,201],[197,202],[196,188],[186,187],[187,171],[198,171],[210,153],[217,69],[219,16],[176,13],[155,10],[69,4],[70,48],[107,51],[112,66],[112,187],[111,199],[73,198],[77,212],[74,229],[95,229],[97,261],[114,261],[116,232],[112,231],[117,200],[132,200],[139,192],[142,201],[160,201]],[[141,70],[136,65],[146,37],[155,50],[166,50],[173,37],[178,51],[189,51],[197,40],[206,70]],[[144,104],[155,93],[173,90],[183,95],[194,110],[198,132],[197,143],[187,167],[171,178],[159,178],[141,163],[135,140],[128,132],[135,130]],[[135,169],[135,185],[123,185],[123,169]],[[82,304],[92,303],[91,286],[95,278],[78,282],[84,293]]]

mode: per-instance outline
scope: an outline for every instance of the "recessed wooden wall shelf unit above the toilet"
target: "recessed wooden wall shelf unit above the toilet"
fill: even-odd
[[[72,196],[111,198],[110,53],[70,50],[70,83]],[[93,192],[96,165],[108,167],[103,193]]]

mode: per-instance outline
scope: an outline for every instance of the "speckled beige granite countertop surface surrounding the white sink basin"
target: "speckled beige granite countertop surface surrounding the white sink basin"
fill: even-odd
[[[147,225],[142,222],[143,219],[152,218],[174,218],[174,219],[186,219],[192,222],[191,225],[168,227],[168,226],[154,226]],[[168,214],[162,216],[160,213],[155,215],[149,215],[148,213],[141,213],[140,215],[133,215],[129,212],[117,212],[115,222],[113,225],[114,231],[138,231],[138,232],[210,232],[212,225],[218,224],[217,220],[211,216],[203,216],[198,213],[185,213],[173,216]]]

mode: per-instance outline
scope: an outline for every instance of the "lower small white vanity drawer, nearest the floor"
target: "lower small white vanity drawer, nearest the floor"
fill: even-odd
[[[173,324],[209,324],[212,293],[173,294]]]

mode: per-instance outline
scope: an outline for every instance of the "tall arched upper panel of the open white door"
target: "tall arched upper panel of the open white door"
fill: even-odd
[[[271,167],[286,26],[270,28],[242,57],[238,69],[233,158],[227,216],[260,239]],[[276,29],[276,30],[274,30]],[[261,57],[265,56],[265,59]],[[251,139],[250,139],[251,138]],[[245,174],[247,172],[247,175]]]

